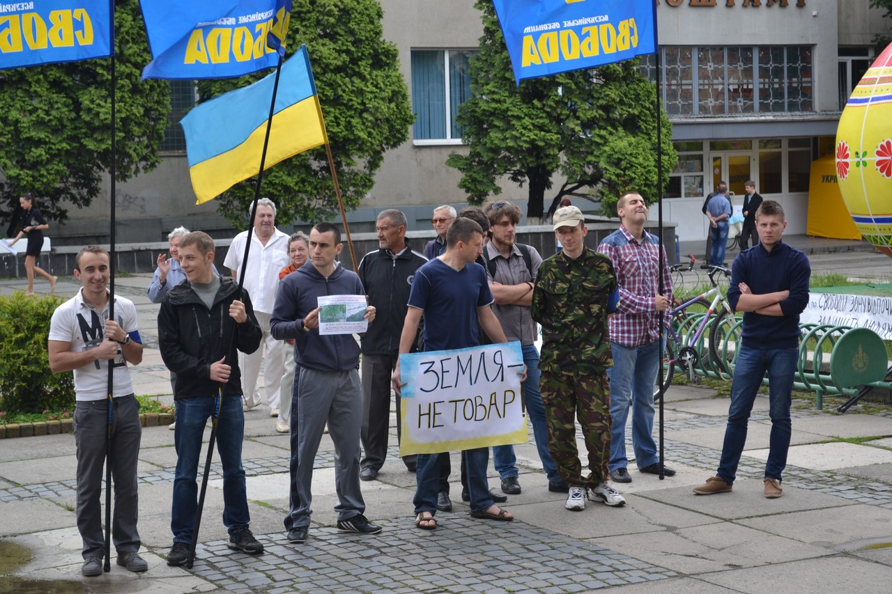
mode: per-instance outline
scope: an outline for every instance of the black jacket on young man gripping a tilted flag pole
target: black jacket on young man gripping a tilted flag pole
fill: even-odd
[[[242,394],[242,374],[238,368],[237,351],[252,353],[260,347],[260,324],[248,292],[242,289],[238,299],[238,285],[231,278],[221,277],[220,287],[211,309],[184,281],[165,293],[158,311],[158,342],[161,359],[170,371],[177,374],[174,400],[217,395],[219,383],[211,380],[211,363],[226,355],[232,374],[223,389],[224,395]],[[229,306],[238,299],[248,314],[244,324],[235,325],[235,340],[226,352],[235,320],[229,317]]]

